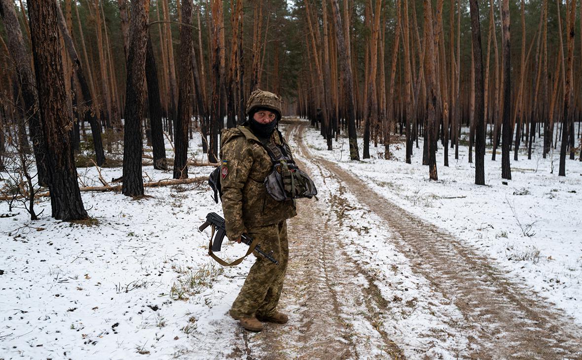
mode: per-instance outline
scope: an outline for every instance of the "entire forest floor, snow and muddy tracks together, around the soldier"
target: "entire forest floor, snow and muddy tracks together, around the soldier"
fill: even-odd
[[[330,152],[305,122],[283,129],[320,192],[289,220],[288,324],[249,333],[228,316],[252,261],[223,269],[206,255],[196,228],[221,208],[205,183],[83,193],[95,219],[83,224],[52,220],[48,199],[34,222],[1,205],[0,359],[582,358],[578,161],[558,178],[556,156],[536,151],[503,185],[500,155],[475,186],[461,147],[450,167],[439,151],[431,182],[421,153],[353,162],[343,137]],[[94,168],[79,174],[98,183]]]

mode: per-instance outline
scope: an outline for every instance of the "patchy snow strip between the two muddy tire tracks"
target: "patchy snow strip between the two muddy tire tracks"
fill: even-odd
[[[310,151],[321,142],[316,131],[309,129],[309,135],[304,139],[310,144]],[[318,186],[320,202],[328,206],[330,218],[336,226],[341,225],[339,236],[334,241],[339,242],[349,257],[367,272],[381,297],[389,304],[379,309],[379,316],[372,326],[388,333],[409,359],[455,359],[465,354],[467,337],[474,334],[452,326],[464,322],[462,312],[443,294],[432,289],[427,278],[415,271],[410,259],[395,245],[399,235],[381,217],[361,204],[342,183],[331,177],[324,178],[320,168],[309,164],[306,158],[296,157],[307,164],[307,170]],[[343,200],[338,204],[335,197]],[[365,280],[363,283],[364,288],[371,286]],[[342,311],[347,323],[354,329],[369,326],[362,321],[361,313],[354,316],[353,309],[348,309],[348,306],[343,304]],[[365,331],[360,330],[359,333],[365,334]],[[365,347],[368,342],[370,338],[355,341],[357,347]],[[384,358],[398,358],[383,353],[384,347],[384,344],[377,346],[379,354],[367,348],[359,353],[368,354],[370,358],[382,358],[382,354]]]

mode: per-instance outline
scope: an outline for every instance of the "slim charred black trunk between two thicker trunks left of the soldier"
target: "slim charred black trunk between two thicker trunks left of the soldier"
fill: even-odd
[[[147,36],[147,52],[145,53],[145,80],[147,82],[147,98],[150,107],[151,144],[154,157],[154,169],[168,170],[166,164],[166,148],[164,130],[162,129],[162,104],[159,100],[158,69],[155,64],[154,48],[151,37]]]

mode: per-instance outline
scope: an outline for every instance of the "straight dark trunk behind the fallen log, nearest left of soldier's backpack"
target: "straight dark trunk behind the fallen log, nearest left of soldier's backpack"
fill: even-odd
[[[192,20],[191,0],[182,1],[182,25],[180,26],[180,79],[178,118],[176,119],[174,178],[188,177],[188,125],[190,123],[190,93],[192,92]]]

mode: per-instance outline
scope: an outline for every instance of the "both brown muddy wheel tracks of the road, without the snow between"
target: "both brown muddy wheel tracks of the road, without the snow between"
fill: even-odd
[[[303,142],[305,128],[306,123],[296,122],[289,126],[286,137],[324,182],[339,184],[339,194],[328,196],[331,200],[325,203],[299,203],[299,215],[289,221],[291,257],[280,306],[289,313],[290,321],[284,326],[268,324],[258,334],[236,330],[244,338],[244,348],[237,347],[235,357],[404,357],[407,344],[392,341],[398,333],[398,319],[393,319],[392,329],[378,324],[392,306],[377,287],[386,280],[354,262],[338,242],[342,224],[331,213],[345,206],[342,194],[349,192],[393,231],[391,242],[409,259],[413,271],[428,280],[430,292],[442,294],[461,314],[447,326],[463,334],[466,344],[461,349],[450,346],[449,357],[582,359],[580,327],[533,291],[511,281],[460,239],[388,200],[378,200],[359,179],[337,165],[311,157]],[[420,352],[407,354],[431,358]]]

